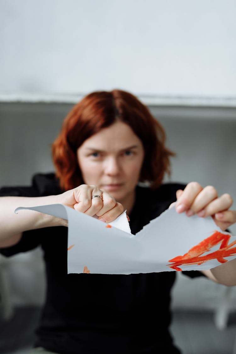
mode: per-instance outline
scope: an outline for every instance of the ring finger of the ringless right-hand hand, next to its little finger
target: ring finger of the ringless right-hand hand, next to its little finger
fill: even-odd
[[[219,198],[210,202],[205,209],[197,213],[200,217],[206,217],[209,215],[214,215],[220,211],[228,210],[233,204],[233,200],[230,194],[223,194]]]

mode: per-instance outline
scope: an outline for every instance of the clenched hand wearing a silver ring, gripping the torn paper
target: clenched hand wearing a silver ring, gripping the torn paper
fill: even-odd
[[[99,195],[99,197],[94,197]],[[90,216],[97,215],[104,222],[115,220],[122,212],[122,204],[95,185],[81,184],[79,187],[58,195],[59,203]]]

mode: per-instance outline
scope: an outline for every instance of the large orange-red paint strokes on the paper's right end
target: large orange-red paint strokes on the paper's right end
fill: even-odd
[[[185,253],[185,255],[169,259],[168,262],[174,263],[168,264],[168,266],[174,270],[180,271],[182,270],[179,268],[180,265],[202,264],[210,259],[217,259],[218,262],[225,263],[227,262],[227,259],[224,257],[236,255],[236,247],[232,247],[236,244],[236,241],[231,242],[231,244],[228,245],[229,239],[230,235],[221,234],[220,232],[215,231],[214,234],[201,241],[198,245],[192,247],[187,253]],[[219,243],[219,250],[201,256]]]

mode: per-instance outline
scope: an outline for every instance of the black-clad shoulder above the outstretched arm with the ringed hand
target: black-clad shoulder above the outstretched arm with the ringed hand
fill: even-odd
[[[2,187],[0,196],[46,196],[62,193],[54,173],[38,173],[29,186]]]

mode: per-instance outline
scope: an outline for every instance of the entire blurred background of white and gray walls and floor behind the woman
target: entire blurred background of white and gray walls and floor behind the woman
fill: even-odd
[[[164,126],[177,153],[166,181],[236,201],[235,15],[233,0],[0,0],[0,187],[53,171],[51,143],[73,104],[118,88]],[[1,353],[27,353],[44,292],[40,249],[0,256]],[[236,353],[235,295],[178,274],[172,330],[184,354]]]

